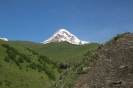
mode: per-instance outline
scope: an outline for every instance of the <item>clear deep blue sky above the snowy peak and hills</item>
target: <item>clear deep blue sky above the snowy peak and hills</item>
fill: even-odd
[[[62,28],[99,43],[133,33],[133,0],[0,0],[0,37],[42,42]]]

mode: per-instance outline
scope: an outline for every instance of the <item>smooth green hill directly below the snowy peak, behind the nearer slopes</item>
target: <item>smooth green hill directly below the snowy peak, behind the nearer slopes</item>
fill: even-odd
[[[88,50],[96,49],[99,44],[86,44],[82,46],[72,45],[67,42],[54,42],[49,44],[40,44],[28,41],[11,41],[15,44],[28,47],[39,54],[48,56],[53,61],[80,61],[83,54]]]

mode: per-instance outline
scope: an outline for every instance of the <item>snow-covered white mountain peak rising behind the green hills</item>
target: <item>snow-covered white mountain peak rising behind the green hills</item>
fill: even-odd
[[[76,45],[83,45],[89,43],[86,41],[79,40],[75,35],[71,34],[69,31],[65,29],[58,30],[56,33],[53,34],[53,36],[51,36],[49,39],[45,40],[42,43],[47,44],[50,42],[62,42],[62,41],[67,41],[71,44],[76,44]]]

